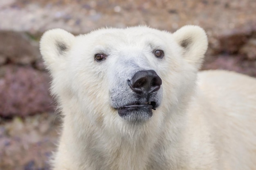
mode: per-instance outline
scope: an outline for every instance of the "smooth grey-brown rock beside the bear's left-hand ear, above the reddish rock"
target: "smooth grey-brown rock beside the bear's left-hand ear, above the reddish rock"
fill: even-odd
[[[34,63],[40,57],[38,43],[29,39],[25,33],[1,31],[0,56],[6,57],[11,63]]]

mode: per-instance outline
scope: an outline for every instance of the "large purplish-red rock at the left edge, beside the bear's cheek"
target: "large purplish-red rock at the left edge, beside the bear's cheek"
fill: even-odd
[[[0,68],[0,116],[26,116],[52,111],[49,76],[31,67],[5,65]]]

